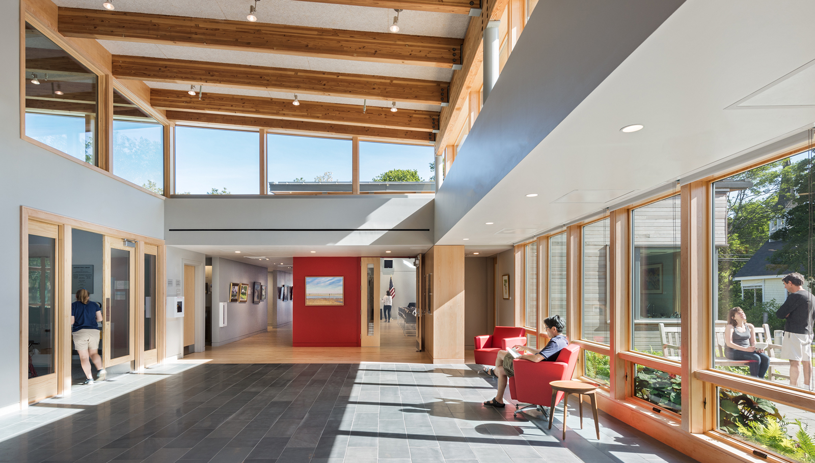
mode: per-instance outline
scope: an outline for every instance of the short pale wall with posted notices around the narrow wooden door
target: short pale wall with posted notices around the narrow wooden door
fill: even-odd
[[[196,267],[196,343],[195,352],[204,352],[204,321],[205,321],[205,262],[206,256],[200,252],[187,251],[178,247],[167,247],[167,273],[165,280],[181,281],[181,286],[167,286],[167,296],[175,296],[177,290],[180,290],[178,295],[184,295],[184,264],[193,265]],[[164,282],[165,285],[167,282]],[[184,304],[187,307],[191,302],[185,300]],[[187,314],[190,313],[185,309]],[[188,315],[185,315],[185,317]],[[183,356],[184,346],[184,318],[167,318],[167,338],[165,356],[167,358],[181,358]]]

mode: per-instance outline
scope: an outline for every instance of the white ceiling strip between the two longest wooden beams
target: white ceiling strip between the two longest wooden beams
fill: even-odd
[[[156,45],[138,41],[100,40],[113,55],[147,56],[148,58],[188,59],[214,63],[245,64],[267,68],[306,69],[308,71],[346,72],[368,76],[393,76],[426,81],[450,81],[453,71],[433,66],[411,66],[398,63],[372,63],[353,59],[315,58],[313,56],[277,55],[254,51],[219,50],[195,46]]]

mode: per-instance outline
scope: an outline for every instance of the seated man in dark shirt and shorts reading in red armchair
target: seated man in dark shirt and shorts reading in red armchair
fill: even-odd
[[[554,315],[544,320],[544,328],[546,335],[549,337],[549,342],[546,344],[546,347],[541,349],[540,352],[536,352],[526,346],[515,346],[518,351],[523,350],[527,352],[518,357],[519,359],[530,360],[535,363],[557,360],[557,356],[560,354],[562,348],[569,344],[566,336],[562,334],[563,330],[566,329],[566,323],[563,322],[560,316]],[[495,399],[484,402],[484,405],[487,405],[487,407],[504,407],[504,391],[506,390],[507,382],[509,382],[510,376],[515,376],[512,366],[513,360],[513,356],[509,352],[498,351],[496,356],[496,368],[484,369],[484,373],[498,378],[498,393]]]

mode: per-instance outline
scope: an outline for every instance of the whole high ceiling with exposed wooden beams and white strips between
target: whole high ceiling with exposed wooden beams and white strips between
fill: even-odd
[[[114,76],[147,83],[152,106],[178,124],[431,143],[473,7],[259,0],[258,22],[249,22],[253,0],[114,0],[115,11],[101,0],[55,3],[60,33],[99,40]],[[397,6],[401,30],[390,33]],[[203,86],[200,98],[190,85]]]

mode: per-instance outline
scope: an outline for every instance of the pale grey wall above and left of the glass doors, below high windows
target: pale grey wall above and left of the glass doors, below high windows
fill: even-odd
[[[155,238],[163,200],[20,138],[20,1],[0,2],[0,409],[20,400],[20,206]]]

